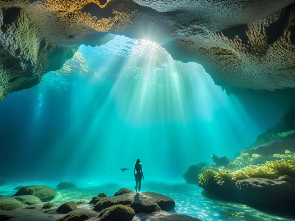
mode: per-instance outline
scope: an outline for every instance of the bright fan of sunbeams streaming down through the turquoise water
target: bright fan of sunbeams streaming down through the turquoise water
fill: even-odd
[[[133,181],[119,168],[132,169],[140,158],[146,177],[182,180],[191,164],[211,162],[213,153],[232,157],[255,140],[260,130],[240,101],[201,65],[175,61],[148,40],[114,39],[107,46],[81,46],[73,65],[67,62],[67,75],[52,73],[42,81],[63,91],[69,105],[61,115],[67,127],[54,133],[40,171],[54,158],[52,166],[58,170],[63,161],[68,177],[76,168],[94,180]],[[112,44],[117,56],[107,56]],[[41,95],[42,109],[49,95]]]

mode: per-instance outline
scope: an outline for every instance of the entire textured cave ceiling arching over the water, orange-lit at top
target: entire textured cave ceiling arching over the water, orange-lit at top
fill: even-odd
[[[0,100],[37,85],[46,72],[60,69],[73,57],[81,44],[101,45],[114,34],[148,37],[175,60],[203,65],[215,83],[228,90],[294,88],[293,3],[4,0]]]

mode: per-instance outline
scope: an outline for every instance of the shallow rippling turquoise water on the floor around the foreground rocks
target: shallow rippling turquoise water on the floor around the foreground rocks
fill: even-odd
[[[59,182],[25,182],[8,183],[0,187],[0,194],[12,195],[17,192],[14,187],[24,185],[47,185],[56,187]],[[104,192],[108,196],[113,196],[120,188],[134,189],[134,183],[97,183],[82,182],[75,190],[58,190],[58,195],[50,202],[62,204],[68,201],[87,201],[99,192]],[[184,184],[179,182],[142,182],[142,192],[158,192],[174,199],[176,203],[175,210],[171,211],[177,214],[185,214],[206,221],[271,221],[271,220],[291,220],[282,217],[269,215],[258,210],[252,209],[242,204],[215,201],[205,198],[202,195],[202,189],[196,185]]]

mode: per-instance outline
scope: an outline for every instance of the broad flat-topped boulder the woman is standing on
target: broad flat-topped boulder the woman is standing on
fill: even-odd
[[[94,206],[95,211],[101,211],[113,205],[122,204],[130,206],[135,214],[144,212],[151,213],[159,210],[171,210],[175,207],[175,202],[170,197],[154,192],[144,192],[137,195],[130,191],[114,197],[101,198]]]

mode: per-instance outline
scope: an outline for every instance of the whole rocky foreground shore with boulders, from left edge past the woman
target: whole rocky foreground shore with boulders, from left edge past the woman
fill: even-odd
[[[127,192],[127,189],[123,190]],[[0,220],[15,218],[15,220],[22,221],[30,217],[31,221],[108,221],[115,220],[114,217],[120,217],[123,221],[199,221],[193,217],[161,211],[172,210],[175,207],[174,200],[170,197],[154,192],[143,192],[138,196],[135,192],[128,191],[128,193],[114,197],[98,197],[99,201],[94,207],[91,204],[76,204],[75,202],[65,202],[60,206],[53,203],[42,204],[41,201],[35,200],[37,198],[35,196],[23,196],[22,199],[27,197],[35,200],[28,203],[34,206],[25,207],[26,204],[17,200],[16,197],[0,197]]]

